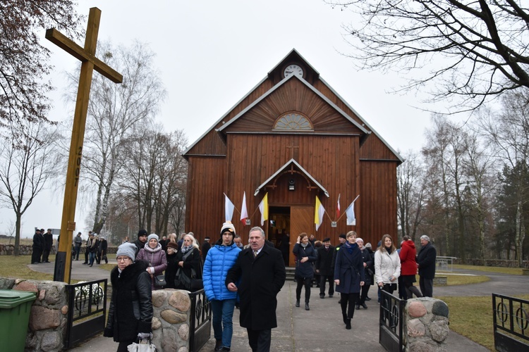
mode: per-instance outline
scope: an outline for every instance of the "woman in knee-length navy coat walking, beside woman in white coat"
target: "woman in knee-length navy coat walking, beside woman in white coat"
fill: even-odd
[[[336,282],[336,291],[341,294],[343,322],[346,324],[346,329],[351,329],[351,319],[355,314],[355,303],[360,296],[360,286],[365,282],[364,262],[355,242],[354,232],[348,232],[346,242],[336,253],[334,282]]]

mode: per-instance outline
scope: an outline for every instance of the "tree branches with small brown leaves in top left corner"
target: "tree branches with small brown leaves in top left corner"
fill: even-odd
[[[48,121],[52,89],[44,80],[53,66],[49,50],[40,44],[44,30],[57,27],[78,37],[81,21],[69,0],[10,0],[0,2],[0,127],[24,121]],[[24,128],[0,130],[10,139],[24,139]],[[6,136],[6,134],[3,134]]]

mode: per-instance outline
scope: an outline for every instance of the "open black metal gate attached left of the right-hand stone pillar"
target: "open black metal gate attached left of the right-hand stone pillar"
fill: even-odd
[[[403,310],[405,300],[382,290],[380,295],[379,344],[386,351],[403,351]]]

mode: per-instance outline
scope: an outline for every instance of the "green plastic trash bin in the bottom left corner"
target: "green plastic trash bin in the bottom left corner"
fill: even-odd
[[[24,351],[35,292],[0,289],[0,341],[2,351]]]

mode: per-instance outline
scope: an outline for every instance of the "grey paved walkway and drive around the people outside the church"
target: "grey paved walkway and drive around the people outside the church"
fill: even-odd
[[[74,279],[103,279],[109,277],[107,270],[90,268],[82,265],[83,261],[74,261],[72,277]],[[52,273],[54,263],[29,265],[32,270]],[[485,296],[492,292],[499,294],[526,294],[529,287],[529,277],[518,275],[503,275],[490,272],[478,272],[469,270],[454,270],[454,273],[487,275],[491,277],[489,282],[471,284],[465,286],[434,287],[435,296]],[[303,296],[302,292],[302,296]],[[379,344],[377,291],[372,287],[370,295],[372,299],[367,302],[368,309],[355,311],[353,318],[353,329],[346,330],[341,321],[341,310],[338,304],[339,296],[333,298],[319,297],[319,289],[313,288],[311,292],[310,310],[302,307],[296,308],[296,284],[292,281],[285,283],[278,296],[278,327],[272,330],[272,351],[344,351],[355,348],[358,351],[384,351]],[[99,336],[85,342],[85,344],[73,348],[77,352],[113,352],[117,344],[111,339]],[[200,352],[213,351],[214,338],[202,348]],[[448,351],[488,351],[487,348],[476,344],[466,337],[455,332],[450,332],[447,339],[446,349]],[[238,310],[233,316],[233,341],[231,351],[250,351],[245,329],[238,324]]]

